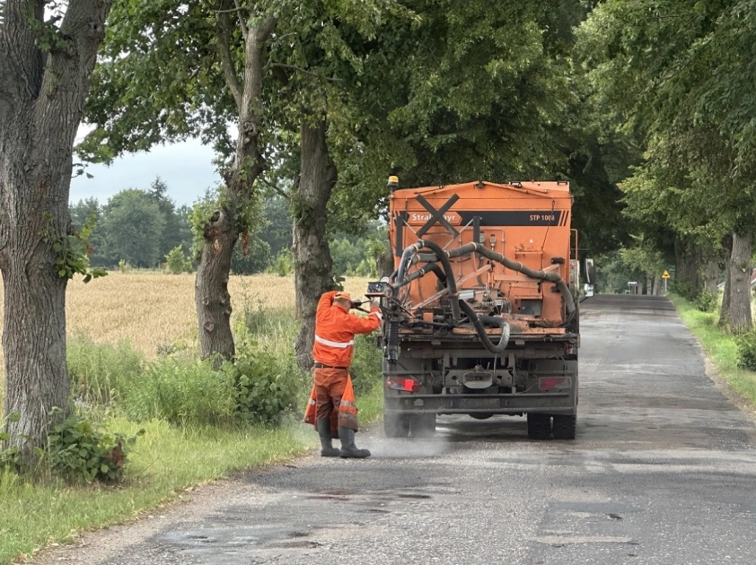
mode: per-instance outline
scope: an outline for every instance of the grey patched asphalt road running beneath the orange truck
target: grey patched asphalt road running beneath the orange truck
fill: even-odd
[[[358,434],[85,535],[38,563],[756,563],[756,427],[720,392],[672,304],[581,304],[574,441],[523,418],[444,417],[434,439]]]

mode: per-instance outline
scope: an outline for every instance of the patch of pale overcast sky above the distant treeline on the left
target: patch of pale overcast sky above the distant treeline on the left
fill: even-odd
[[[213,166],[213,150],[199,140],[172,145],[157,145],[150,152],[121,157],[110,167],[90,165],[85,175],[71,180],[69,201],[76,203],[90,196],[105,204],[124,188],[150,187],[155,177],[163,178],[168,194],[177,205],[192,204],[220,180]]]

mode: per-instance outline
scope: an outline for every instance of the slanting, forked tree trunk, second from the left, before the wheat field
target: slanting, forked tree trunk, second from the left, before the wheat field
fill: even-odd
[[[218,16],[217,49],[224,70],[226,84],[239,110],[239,135],[233,165],[224,171],[225,193],[215,214],[203,227],[203,247],[199,255],[194,300],[199,325],[199,350],[203,359],[217,354],[233,359],[235,346],[231,331],[231,295],[228,277],[231,273],[231,256],[236,240],[244,230],[245,209],[251,208],[255,179],[263,170],[263,157],[259,147],[262,126],[261,94],[265,66],[263,48],[277,25],[268,17],[258,25],[247,28],[242,23],[244,36],[244,74],[239,80],[231,57],[232,24],[229,12],[231,2]],[[243,18],[240,9],[239,17]],[[217,363],[216,363],[217,365]]]

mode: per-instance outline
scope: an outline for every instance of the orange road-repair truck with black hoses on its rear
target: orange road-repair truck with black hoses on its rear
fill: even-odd
[[[438,414],[527,414],[533,439],[574,439],[577,232],[567,182],[391,187],[395,270],[382,308],[384,429]]]

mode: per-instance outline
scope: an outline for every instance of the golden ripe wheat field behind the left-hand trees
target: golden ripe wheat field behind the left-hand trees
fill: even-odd
[[[83,333],[95,343],[127,340],[148,359],[176,343],[197,349],[194,282],[194,274],[115,272],[87,284],[77,277],[69,282],[66,294],[67,334]],[[361,297],[367,279],[349,278],[344,288],[353,297]],[[232,322],[245,305],[252,309],[294,310],[293,276],[233,275],[229,292]],[[0,316],[2,297],[0,293]]]

